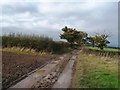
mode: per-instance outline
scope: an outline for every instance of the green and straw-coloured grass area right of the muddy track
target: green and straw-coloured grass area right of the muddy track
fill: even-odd
[[[75,65],[72,87],[117,88],[118,60],[80,53]]]

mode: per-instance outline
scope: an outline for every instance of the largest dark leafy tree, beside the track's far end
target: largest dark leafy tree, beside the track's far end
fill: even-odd
[[[65,26],[62,28],[63,34],[60,34],[61,39],[66,39],[70,43],[71,47],[74,45],[81,45],[84,43],[87,33],[83,31],[77,31],[73,28]]]

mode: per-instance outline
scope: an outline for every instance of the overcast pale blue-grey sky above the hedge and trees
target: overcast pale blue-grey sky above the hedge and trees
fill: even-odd
[[[33,2],[34,1],[34,2]],[[44,1],[44,0],[43,0]],[[95,32],[110,33],[111,46],[118,44],[118,3],[111,0],[49,2],[38,0],[3,0],[0,2],[0,27],[2,33],[39,34],[60,40],[64,26],[86,31],[90,36]],[[106,2],[105,2],[106,1]],[[113,1],[113,0],[112,0]]]

